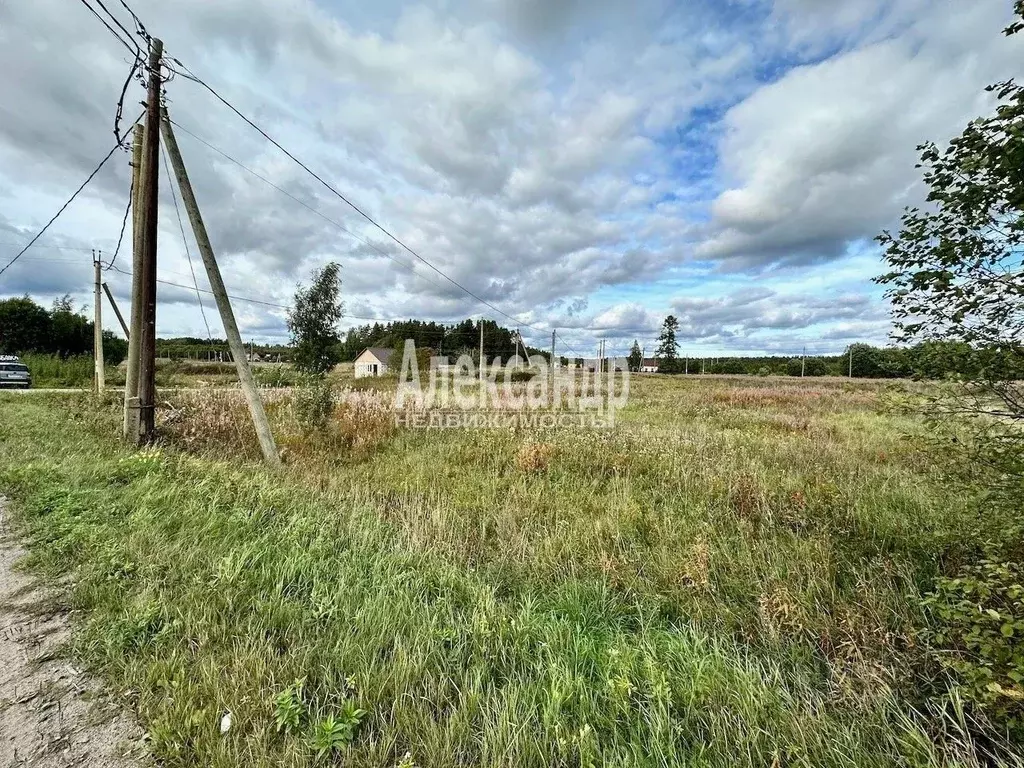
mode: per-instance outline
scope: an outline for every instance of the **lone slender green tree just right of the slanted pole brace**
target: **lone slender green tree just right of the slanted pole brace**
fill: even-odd
[[[342,349],[338,322],[341,302],[341,267],[331,262],[313,273],[308,288],[299,286],[295,305],[288,311],[288,330],[295,347],[295,367],[323,376],[338,365]]]

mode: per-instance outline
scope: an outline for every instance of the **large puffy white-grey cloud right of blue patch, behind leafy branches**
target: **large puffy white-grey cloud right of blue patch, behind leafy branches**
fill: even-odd
[[[828,260],[891,225],[921,198],[915,145],[957,133],[989,108],[984,86],[1020,69],[1007,20],[995,3],[928,14],[735,105],[719,147],[727,188],[697,255],[731,268]]]

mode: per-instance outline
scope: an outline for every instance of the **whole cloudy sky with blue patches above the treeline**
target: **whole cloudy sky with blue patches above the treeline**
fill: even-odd
[[[1024,41],[1000,34],[1010,0],[130,5],[168,55],[515,318],[177,77],[182,128],[288,193],[178,131],[228,290],[270,304],[236,302],[243,335],[267,341],[287,338],[271,305],[333,260],[349,315],[483,314],[539,345],[557,328],[581,354],[599,338],[650,348],[670,312],[693,355],[885,343],[872,238],[922,198],[914,147],[989,111],[984,86],[1024,61]],[[0,262],[114,145],[129,63],[80,0],[0,0]],[[129,89],[127,122],[142,95]],[[127,161],[0,276],[0,297],[91,304],[89,251],[113,255]],[[161,168],[159,273],[190,286],[167,181]],[[187,248],[206,288],[190,234]],[[124,247],[116,266],[131,267]],[[105,275],[127,308],[130,279]],[[195,291],[160,298],[162,336],[206,336]]]

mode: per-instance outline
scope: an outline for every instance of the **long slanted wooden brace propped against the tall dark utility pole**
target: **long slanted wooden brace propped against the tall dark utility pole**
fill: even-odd
[[[213,254],[213,246],[210,245],[210,237],[206,231],[206,224],[203,223],[203,215],[199,210],[199,203],[196,202],[196,195],[188,180],[188,173],[185,171],[184,161],[181,160],[181,153],[178,150],[177,139],[174,137],[174,130],[171,128],[171,119],[167,115],[167,110],[163,111],[163,121],[161,130],[164,133],[164,143],[167,145],[167,154],[171,159],[171,167],[178,180],[178,188],[181,189],[181,201],[184,203],[185,211],[188,213],[188,220],[191,222],[193,232],[196,234],[196,243],[199,245],[199,252],[203,256],[203,263],[206,265],[206,274],[210,280],[210,288],[217,301],[217,309],[220,312],[220,321],[224,326],[224,333],[227,336],[227,345],[231,350],[231,357],[234,358],[234,369],[239,372],[239,382],[242,384],[242,391],[245,392],[246,400],[249,402],[249,413],[253,418],[253,425],[256,427],[256,435],[259,437],[260,449],[263,451],[263,459],[273,468],[281,467],[281,455],[278,453],[278,445],[273,441],[273,432],[270,431],[270,422],[267,421],[266,412],[263,410],[263,401],[259,398],[256,390],[256,382],[253,380],[252,370],[249,368],[249,360],[246,356],[246,347],[242,342],[242,335],[239,333],[239,325],[234,321],[234,312],[231,310],[231,302],[227,298],[227,289],[224,288],[224,281],[220,276],[220,267]]]

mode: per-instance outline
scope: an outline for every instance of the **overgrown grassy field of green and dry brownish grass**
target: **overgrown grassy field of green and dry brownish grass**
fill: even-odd
[[[143,453],[0,395],[0,492],[167,765],[976,764],[916,628],[998,521],[881,388],[637,377],[606,431],[398,430],[370,391],[330,440],[280,395],[282,476],[233,395]]]

